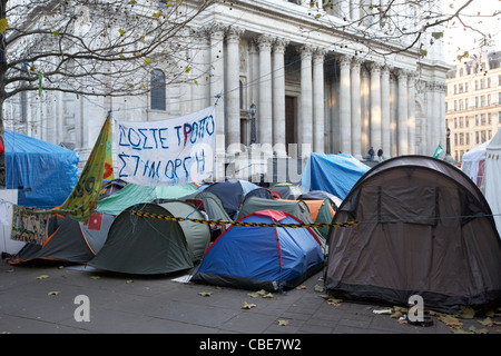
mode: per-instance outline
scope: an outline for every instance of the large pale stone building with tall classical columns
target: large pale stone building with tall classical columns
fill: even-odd
[[[80,165],[109,110],[117,120],[151,121],[216,102],[216,158],[222,167],[233,165],[235,171],[245,169],[238,158],[253,149],[265,159],[304,161],[311,151],[341,151],[363,159],[371,147],[382,148],[386,158],[433,155],[438,145],[445,147],[449,67],[442,41],[435,39],[422,57],[418,48],[407,49],[413,38],[386,39],[396,18],[387,24],[382,16],[367,16],[373,7],[364,1],[343,0],[325,9],[318,1],[313,16],[311,3],[218,1],[191,28],[197,36],[189,40],[197,46],[187,53],[194,65],[184,83],[164,83],[166,65],[151,70],[148,96],[48,92],[30,98],[31,93],[24,93],[6,106],[9,122],[18,131],[75,149]],[[418,31],[420,21],[426,21],[425,11],[440,9],[442,1],[409,1],[399,7],[404,14],[399,24]],[[357,19],[364,20],[343,27]],[[372,48],[357,32],[361,26],[372,31]],[[423,41],[430,39],[425,33]],[[255,116],[249,111],[252,103]]]

